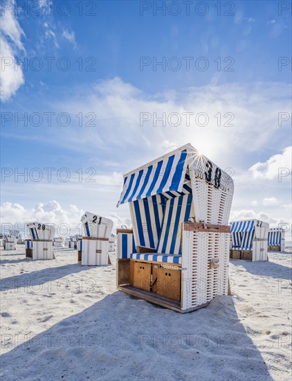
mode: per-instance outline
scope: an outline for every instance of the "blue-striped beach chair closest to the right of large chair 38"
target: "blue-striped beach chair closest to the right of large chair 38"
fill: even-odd
[[[259,220],[231,222],[231,259],[268,260],[268,224]]]

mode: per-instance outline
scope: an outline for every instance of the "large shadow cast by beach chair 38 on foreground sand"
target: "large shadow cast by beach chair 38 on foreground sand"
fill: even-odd
[[[6,344],[3,380],[272,380],[230,296],[180,314],[114,292],[21,344],[8,333]]]

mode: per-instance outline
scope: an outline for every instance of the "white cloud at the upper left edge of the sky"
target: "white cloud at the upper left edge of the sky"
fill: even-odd
[[[10,99],[21,85],[24,84],[24,74],[16,62],[18,51],[25,51],[21,42],[24,31],[14,15],[15,1],[10,2],[9,9],[1,8],[0,36],[0,98],[3,102]]]

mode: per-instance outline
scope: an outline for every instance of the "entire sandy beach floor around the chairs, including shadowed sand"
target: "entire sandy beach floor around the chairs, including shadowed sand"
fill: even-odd
[[[116,291],[77,251],[0,251],[3,380],[291,380],[291,254],[233,260],[232,297],[179,314]]]

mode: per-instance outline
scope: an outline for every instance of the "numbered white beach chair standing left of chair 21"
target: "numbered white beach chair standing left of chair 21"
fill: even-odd
[[[27,226],[33,244],[33,259],[55,259],[53,252],[55,227],[40,222],[30,222]]]

